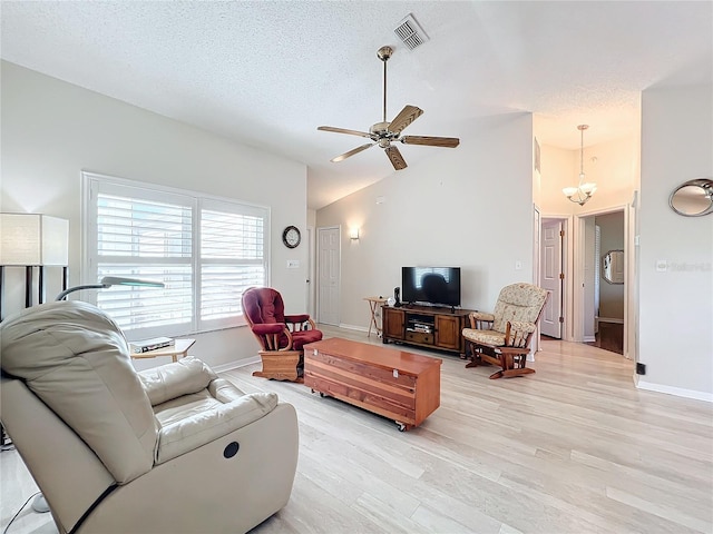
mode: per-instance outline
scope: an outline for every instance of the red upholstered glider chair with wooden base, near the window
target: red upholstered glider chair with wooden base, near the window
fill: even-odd
[[[262,370],[253,376],[302,382],[303,347],[322,339],[307,314],[285,315],[280,291],[271,287],[251,287],[243,293],[243,314],[262,350]]]

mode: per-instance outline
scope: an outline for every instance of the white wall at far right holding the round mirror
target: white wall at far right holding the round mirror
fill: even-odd
[[[713,216],[668,208],[677,185],[713,177],[713,86],[652,88],[642,103],[638,385],[713,400]]]

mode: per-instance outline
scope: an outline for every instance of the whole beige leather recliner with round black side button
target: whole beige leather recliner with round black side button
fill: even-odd
[[[290,498],[292,405],[192,357],[137,373],[89,304],[9,317],[0,358],[2,424],[60,533],[246,532]]]

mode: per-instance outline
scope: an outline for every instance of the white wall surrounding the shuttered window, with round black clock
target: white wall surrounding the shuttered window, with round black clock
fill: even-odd
[[[305,309],[307,247],[289,250],[281,235],[289,225],[306,231],[306,166],[12,63],[2,62],[1,76],[0,209],[69,219],[70,285],[87,281],[79,273],[86,169],[268,206],[272,285],[289,313]],[[287,259],[299,259],[301,268],[286,269]],[[7,285],[8,308],[22,307],[14,298],[21,289],[14,273]],[[56,293],[48,291],[49,298]],[[247,328],[197,338],[191,354],[214,366],[256,356]]]

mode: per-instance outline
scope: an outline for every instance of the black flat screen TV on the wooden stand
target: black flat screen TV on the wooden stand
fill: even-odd
[[[460,267],[401,267],[401,299],[460,306]]]

